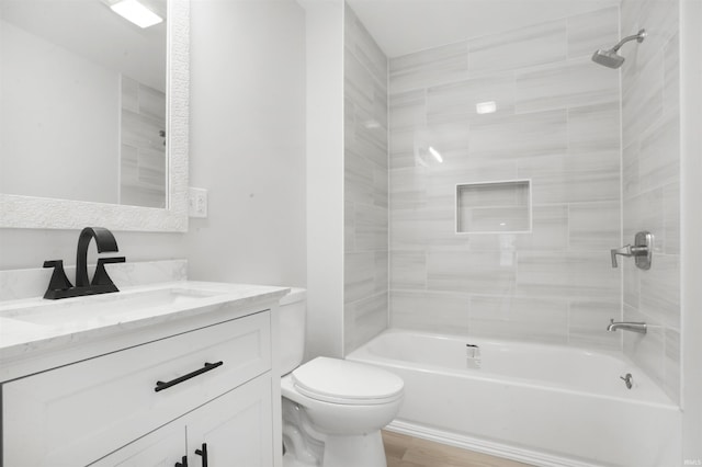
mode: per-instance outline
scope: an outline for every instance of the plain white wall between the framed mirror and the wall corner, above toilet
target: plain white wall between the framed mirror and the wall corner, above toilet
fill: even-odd
[[[190,276],[305,285],[305,32],[293,0],[193,1]]]

